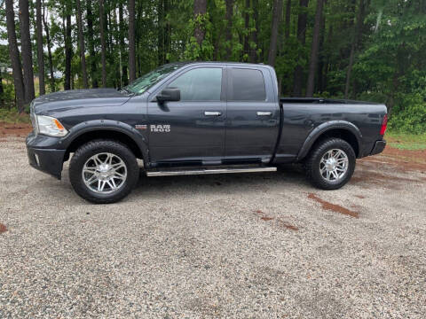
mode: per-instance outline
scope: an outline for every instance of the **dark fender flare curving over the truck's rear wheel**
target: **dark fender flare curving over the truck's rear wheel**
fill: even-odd
[[[312,129],[312,132],[306,137],[302,148],[297,154],[297,160],[304,159],[319,136],[331,129],[344,129],[351,132],[357,138],[359,153],[361,152],[362,133],[357,126],[349,121],[327,121]]]

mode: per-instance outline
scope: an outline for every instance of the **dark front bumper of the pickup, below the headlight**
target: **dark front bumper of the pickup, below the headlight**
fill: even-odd
[[[45,148],[49,144],[55,145],[57,139],[58,137],[36,136],[31,132],[26,144],[29,165],[60,180],[66,151]]]

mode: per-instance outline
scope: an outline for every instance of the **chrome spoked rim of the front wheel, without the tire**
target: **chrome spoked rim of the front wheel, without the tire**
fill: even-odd
[[[99,194],[110,194],[120,190],[126,182],[127,166],[119,156],[101,152],[86,160],[82,177],[89,190]]]

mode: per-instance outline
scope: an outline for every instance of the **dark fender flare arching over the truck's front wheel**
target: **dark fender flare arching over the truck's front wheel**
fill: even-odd
[[[85,133],[93,131],[115,131],[126,136],[138,145],[140,152],[142,153],[144,163],[149,163],[148,157],[148,144],[146,136],[140,134],[138,129],[131,127],[129,124],[123,123],[122,121],[113,121],[113,120],[92,120],[92,121],[83,121],[74,127],[70,128],[67,136],[62,139],[59,143],[62,144],[62,148],[67,150],[69,145],[71,145],[75,139],[79,136],[82,136]]]

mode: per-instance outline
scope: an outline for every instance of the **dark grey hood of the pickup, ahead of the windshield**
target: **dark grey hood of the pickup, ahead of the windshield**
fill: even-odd
[[[67,111],[87,106],[119,106],[130,95],[116,89],[71,89],[37,97],[31,103],[31,112]]]

